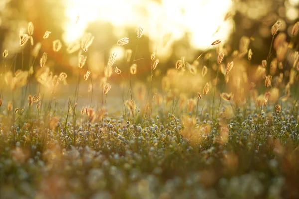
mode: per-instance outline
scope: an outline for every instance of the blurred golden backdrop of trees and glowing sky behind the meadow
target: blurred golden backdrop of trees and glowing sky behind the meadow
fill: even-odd
[[[280,32],[291,34],[299,15],[298,5],[299,0],[1,0],[0,48],[1,52],[8,49],[10,58],[20,54],[19,29],[32,21],[34,43],[42,42],[41,52],[48,53],[47,65],[71,77],[78,73],[78,54],[64,55],[66,46],[84,32],[90,32],[95,40],[88,51],[88,64],[93,76],[101,76],[112,51],[117,52],[116,66],[122,69],[124,51],[134,52],[136,29],[142,26],[144,36],[136,54],[136,59],[140,59],[136,62],[140,78],[149,73],[153,51],[160,59],[159,73],[165,74],[182,56],[192,63],[216,39],[222,41],[217,48],[233,54],[239,49],[242,36],[251,39],[254,66],[267,58],[272,39],[270,29],[277,20],[282,22]],[[43,40],[47,30],[51,31],[50,38]],[[122,37],[129,37],[129,44],[113,46]],[[55,39],[64,42],[58,53],[52,50]],[[294,49],[298,50],[298,36],[294,41]],[[25,48],[24,63],[28,63],[26,59],[30,56],[26,55],[31,46]],[[210,59],[215,60],[216,55],[202,57],[200,66],[209,65]],[[20,60],[18,56],[17,63]],[[39,67],[38,63],[34,67]]]

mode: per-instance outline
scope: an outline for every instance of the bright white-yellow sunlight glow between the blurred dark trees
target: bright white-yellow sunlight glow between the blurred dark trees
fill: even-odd
[[[82,36],[89,22],[110,22],[118,37],[124,28],[142,26],[153,45],[163,42],[165,35],[171,41],[190,33],[195,48],[206,48],[216,39],[225,41],[232,29],[232,21],[224,22],[231,8],[231,0],[65,0],[64,40],[73,41]],[[80,15],[76,24],[77,15]],[[219,29],[217,33],[216,30]],[[215,34],[214,34],[215,33]]]

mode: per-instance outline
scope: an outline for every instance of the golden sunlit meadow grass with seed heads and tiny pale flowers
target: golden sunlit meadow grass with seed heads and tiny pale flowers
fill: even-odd
[[[137,42],[142,39],[142,31],[139,27]],[[88,35],[88,39],[93,40],[93,37]],[[85,39],[85,46],[82,47],[84,51],[92,43],[86,41],[88,39]],[[275,42],[274,36],[267,63],[271,61],[273,41]],[[129,39],[124,38],[118,42],[124,45]],[[218,40],[216,44],[215,42],[212,45],[220,43]],[[22,45],[26,45],[26,42]],[[137,47],[138,44],[136,51]],[[211,52],[218,56],[218,53]],[[282,53],[282,49],[276,53]],[[3,63],[8,64],[10,62],[6,54],[5,51]],[[26,71],[18,71],[11,76],[11,72],[6,72],[6,67],[5,70],[1,69],[6,78],[5,84],[12,88],[9,92],[13,95],[12,102],[9,101],[9,94],[5,96],[1,91],[0,96],[1,198],[299,197],[297,93],[294,97],[291,96],[293,89],[294,93],[297,90],[296,83],[285,83],[280,79],[274,82],[274,77],[281,77],[278,73],[270,74],[273,76],[270,82],[275,85],[272,88],[268,87],[271,85],[269,82],[265,83],[267,87],[264,86],[263,77],[255,77],[255,82],[251,84],[239,84],[241,80],[238,68],[232,66],[238,66],[238,61],[246,58],[244,55],[234,58],[233,55],[226,54],[223,61],[227,63],[227,67],[219,70],[221,61],[218,60],[219,68],[216,68],[216,78],[221,75],[218,74],[219,71],[223,74],[221,90],[217,79],[215,84],[204,79],[210,83],[204,82],[203,85],[207,85],[204,89],[198,90],[199,93],[186,94],[187,100],[184,100],[183,95],[171,88],[172,84],[168,80],[163,80],[163,91],[153,94],[153,71],[159,67],[159,60],[152,56],[154,58],[150,64],[148,92],[140,91],[148,93],[147,100],[138,102],[132,96],[131,89],[135,84],[131,80],[132,74],[127,80],[127,94],[123,87],[121,89],[122,99],[118,101],[123,104],[119,106],[120,111],[110,116],[110,110],[105,107],[109,103],[107,94],[111,87],[113,89],[109,78],[116,55],[110,56],[105,69],[106,82],[101,80],[101,102],[96,102],[97,106],[91,107],[93,99],[98,99],[96,92],[93,92],[94,98],[92,94],[91,101],[88,100],[86,104],[89,106],[83,107],[81,111],[77,102],[86,57],[81,53],[79,56],[78,83],[74,97],[68,99],[66,107],[57,107],[57,103],[53,101],[54,97],[61,97],[55,96],[55,90],[65,80],[66,74],[54,75],[42,66],[43,72],[35,72],[39,74],[38,83],[36,82],[39,84],[38,91],[42,91],[40,88],[48,88],[51,94],[47,98],[45,93],[30,93],[33,100],[27,101],[29,104],[23,109],[17,107],[24,104],[24,100],[17,99],[26,99],[29,93],[23,87],[32,84],[34,77]],[[286,59],[283,55],[279,57]],[[45,65],[46,60],[41,59],[42,65]],[[130,58],[126,62],[129,63]],[[188,64],[184,58],[177,63],[177,71],[196,75],[194,73],[198,66]],[[16,62],[13,61],[12,64]],[[127,66],[124,70],[130,73],[129,64]],[[267,67],[269,64],[266,64]],[[126,81],[117,69],[115,68],[116,75]],[[257,76],[263,73],[261,69],[258,71]],[[135,72],[136,68],[134,74]],[[295,75],[290,79],[298,81],[298,71],[292,74]],[[242,75],[243,79],[245,75],[248,77],[248,74]],[[95,81],[91,79],[92,91]],[[232,90],[234,96],[222,93],[225,88],[229,88],[230,81],[235,83],[236,90]],[[245,95],[244,85],[249,84],[250,95]],[[210,85],[214,87],[212,98],[209,95]],[[254,88],[254,85],[260,86]],[[160,100],[161,98],[164,100]],[[214,103],[217,109],[214,109]]]

